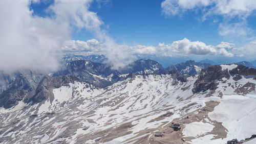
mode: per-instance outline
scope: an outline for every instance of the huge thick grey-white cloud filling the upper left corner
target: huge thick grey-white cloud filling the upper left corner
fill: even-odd
[[[56,69],[67,23],[32,16],[31,1],[0,1],[0,69]]]

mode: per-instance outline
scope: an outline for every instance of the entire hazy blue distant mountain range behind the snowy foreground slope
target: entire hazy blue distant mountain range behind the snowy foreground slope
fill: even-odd
[[[90,59],[94,62],[84,59]],[[66,55],[63,57],[62,62],[65,63],[68,61],[68,63],[65,63],[60,70],[53,73],[41,73],[33,70],[18,70],[12,73],[4,73],[4,71],[0,71],[0,107],[4,106],[8,108],[12,107],[13,105],[17,105],[17,100],[24,99],[25,95],[27,95],[27,93],[30,91],[35,90],[42,78],[48,75],[52,77],[75,76],[80,81],[90,83],[95,87],[103,88],[126,79],[132,73],[177,73],[177,76],[179,75],[178,73],[181,75],[197,75],[201,73],[202,69],[206,69],[211,65],[209,63],[201,63],[204,61],[211,62],[209,60],[204,60],[201,62],[189,60],[176,65],[169,65],[167,68],[164,68],[157,61],[140,59],[122,69],[112,69],[107,64],[98,63],[104,61],[105,59],[106,58],[103,55],[93,55],[87,57]],[[238,62],[238,64],[254,68],[250,62],[243,61]],[[176,72],[172,70],[176,70]],[[20,97],[16,97],[15,95],[20,95]]]

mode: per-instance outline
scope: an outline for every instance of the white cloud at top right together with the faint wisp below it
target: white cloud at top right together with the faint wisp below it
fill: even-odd
[[[165,16],[180,15],[186,11],[200,11],[202,19],[212,15],[222,16],[219,25],[221,36],[246,37],[251,33],[246,18],[256,11],[255,0],[165,0],[161,3]],[[230,23],[234,19],[238,22]],[[214,20],[216,21],[216,19]]]

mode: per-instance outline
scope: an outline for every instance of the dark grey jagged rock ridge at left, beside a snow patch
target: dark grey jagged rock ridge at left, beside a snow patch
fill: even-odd
[[[71,75],[71,76],[59,76],[59,77],[50,77],[45,76],[39,82],[37,88],[26,96],[24,99],[25,103],[40,103],[48,98],[53,100],[54,94],[52,90],[54,88],[59,88],[61,86],[69,86],[69,83],[81,82],[81,79],[78,77]]]

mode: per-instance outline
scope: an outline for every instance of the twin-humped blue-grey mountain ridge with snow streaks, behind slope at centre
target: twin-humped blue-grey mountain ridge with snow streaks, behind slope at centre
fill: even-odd
[[[75,75],[83,81],[93,83],[95,86],[105,87],[123,80],[131,73],[162,74],[165,72],[161,64],[153,60],[137,60],[122,69],[112,69],[106,64],[78,60],[67,63],[65,68],[57,71],[52,76]]]

